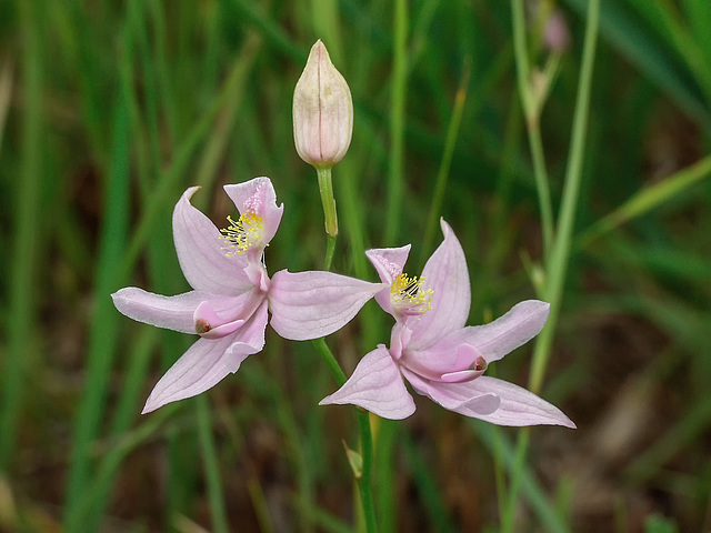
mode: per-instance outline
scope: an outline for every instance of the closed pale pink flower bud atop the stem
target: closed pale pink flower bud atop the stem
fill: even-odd
[[[346,155],[352,133],[351,91],[318,40],[293,91],[297,152],[316,168],[333,167]]]

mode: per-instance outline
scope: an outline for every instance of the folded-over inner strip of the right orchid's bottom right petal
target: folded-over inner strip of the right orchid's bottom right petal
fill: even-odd
[[[501,400],[493,392],[480,392],[470,390],[468,385],[475,383],[481,378],[468,383],[434,382],[401,368],[402,375],[420,394],[428,396],[444,409],[454,411],[465,416],[481,418],[497,411]]]

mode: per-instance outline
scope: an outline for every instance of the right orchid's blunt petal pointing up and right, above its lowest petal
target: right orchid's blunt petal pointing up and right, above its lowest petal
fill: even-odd
[[[489,324],[464,328],[460,340],[475,346],[487,362],[498,361],[538,335],[549,310],[545,302],[527,300]]]

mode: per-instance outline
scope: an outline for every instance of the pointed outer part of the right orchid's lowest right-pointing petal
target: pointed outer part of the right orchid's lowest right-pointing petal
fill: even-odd
[[[575,429],[573,421],[555,405],[508,381],[484,375],[458,386],[468,386],[478,393],[493,393],[501,398],[498,410],[491,414],[477,416],[492,424],[519,426],[552,424]]]

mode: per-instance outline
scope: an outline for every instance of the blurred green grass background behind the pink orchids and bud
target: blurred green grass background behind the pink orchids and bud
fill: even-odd
[[[558,54],[548,14],[569,33],[540,118],[554,213],[587,3],[525,4],[532,67]],[[357,447],[356,422],[317,406],[336,383],[311,343],[268,330],[236,375],[141,416],[194,339],[126,319],[109,295],[187,290],[176,201],[201,184],[196,203],[224,227],[220,185],[256,175],[284,203],[269,271],[320,268],[291,98],[321,38],[356,108],[333,170],[334,270],[374,281],[362,251],[411,242],[418,273],[440,240],[428,218],[441,175],[433,211],[464,247],[470,323],[537,298],[511,20],[509,2],[485,0],[0,2],[0,531],[354,531],[342,442]],[[531,430],[514,531],[711,531],[710,24],[704,0],[602,1],[541,391],[579,429]],[[328,340],[349,373],[388,342],[388,319],[370,303]],[[525,385],[531,353],[490,372]],[[417,403],[377,423],[381,531],[499,531],[518,430]]]

